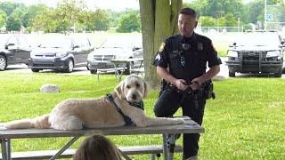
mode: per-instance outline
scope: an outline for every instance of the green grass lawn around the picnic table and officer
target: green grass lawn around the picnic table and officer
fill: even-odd
[[[60,93],[40,93],[58,84]],[[118,84],[112,75],[0,73],[0,122],[49,113],[69,98],[100,97]],[[282,159],[285,157],[285,81],[281,78],[231,78],[215,82],[216,100],[208,100],[200,137],[199,159]],[[148,116],[159,91],[144,100]],[[181,112],[176,116],[180,116]],[[118,146],[161,144],[160,135],[109,136]],[[13,151],[59,149],[69,139],[12,140]],[[71,148],[77,148],[77,141]],[[181,144],[179,139],[178,143]],[[148,159],[134,156],[134,159]],[[175,159],[181,159],[176,154]]]

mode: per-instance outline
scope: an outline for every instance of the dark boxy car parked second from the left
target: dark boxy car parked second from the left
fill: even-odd
[[[87,56],[92,51],[94,47],[86,37],[48,39],[30,53],[28,67],[33,72],[54,69],[70,73],[73,68],[87,67]]]

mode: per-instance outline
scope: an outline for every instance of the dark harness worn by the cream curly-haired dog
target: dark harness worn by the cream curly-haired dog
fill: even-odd
[[[131,120],[131,118],[129,116],[126,116],[123,111],[121,110],[121,108],[118,108],[118,105],[115,103],[114,98],[112,97],[111,94],[107,94],[105,97],[107,100],[110,101],[110,103],[112,103],[112,105],[116,108],[116,110],[118,111],[118,113],[123,116],[125,124],[126,125],[135,125],[134,122]],[[126,100],[127,101],[127,100]],[[143,102],[141,101],[134,101],[134,102],[130,102],[127,101],[129,105],[135,107],[135,108],[140,108],[142,110],[144,110],[143,108]]]

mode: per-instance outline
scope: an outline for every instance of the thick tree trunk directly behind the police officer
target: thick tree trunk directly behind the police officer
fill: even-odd
[[[152,62],[160,44],[178,33],[177,15],[181,6],[182,0],[140,0],[145,80],[151,88],[157,88],[160,82]]]

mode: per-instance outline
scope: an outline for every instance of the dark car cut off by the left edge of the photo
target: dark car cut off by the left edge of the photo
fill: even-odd
[[[24,36],[1,36],[0,71],[13,64],[27,64],[31,46]]]

